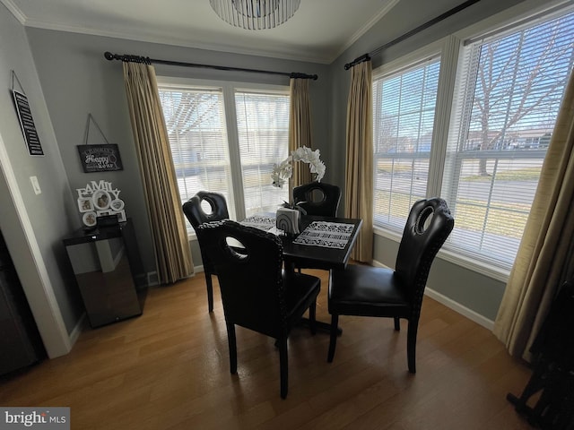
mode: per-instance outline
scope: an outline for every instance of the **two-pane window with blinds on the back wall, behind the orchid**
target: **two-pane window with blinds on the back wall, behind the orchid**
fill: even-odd
[[[200,190],[222,193],[230,217],[243,219],[289,199],[271,181],[289,151],[288,89],[158,83],[182,203]]]

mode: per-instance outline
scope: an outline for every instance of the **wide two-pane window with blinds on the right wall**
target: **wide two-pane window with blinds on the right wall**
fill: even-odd
[[[449,79],[454,81],[457,74],[451,90],[452,111],[431,107],[431,91],[428,99],[421,96],[430,64],[387,73],[374,82],[376,225],[404,227],[405,208],[419,196],[439,194],[456,219],[443,249],[456,258],[508,271],[526,226],[574,65],[572,40],[571,9],[539,14],[464,40],[457,60],[448,54],[442,56],[442,67],[453,71]],[[448,61],[457,61],[457,66],[445,67]],[[400,89],[396,93],[380,93],[381,86],[394,88],[390,85],[393,79],[405,79],[413,72],[420,74],[411,88],[396,86]],[[438,90],[435,99],[447,91],[441,88],[441,82],[446,81],[434,81]],[[400,120],[401,110],[394,99],[403,107],[403,95],[428,101],[406,106],[418,109],[420,117],[426,118],[415,123],[421,125],[419,129]],[[445,142],[439,142],[438,133],[448,136],[442,139]],[[404,136],[408,136],[408,143],[404,143]],[[422,156],[429,151],[425,142],[431,142],[431,157]],[[390,155],[385,156],[385,151]],[[428,172],[433,168],[440,174],[431,177]]]

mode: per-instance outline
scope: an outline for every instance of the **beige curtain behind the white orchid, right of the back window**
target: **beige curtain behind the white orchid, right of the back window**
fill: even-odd
[[[291,107],[289,112],[289,153],[306,146],[311,148],[311,112],[309,103],[309,79],[291,78],[289,84]],[[292,187],[309,184],[313,180],[309,166],[304,163],[293,164]]]

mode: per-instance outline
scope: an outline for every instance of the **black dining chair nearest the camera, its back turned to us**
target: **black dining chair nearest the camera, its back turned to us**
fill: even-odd
[[[263,333],[279,348],[281,397],[288,391],[287,338],[309,309],[315,332],[321,281],[283,271],[283,244],[278,236],[230,219],[202,224],[197,230],[217,271],[230,348],[230,372],[237,373],[235,326]],[[230,245],[233,244],[233,246]],[[242,253],[235,251],[238,244]]]

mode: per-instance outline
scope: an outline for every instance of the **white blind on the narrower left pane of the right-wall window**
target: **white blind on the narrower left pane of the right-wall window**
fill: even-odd
[[[402,232],[426,196],[440,58],[373,82],[374,223]]]

